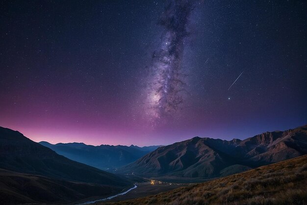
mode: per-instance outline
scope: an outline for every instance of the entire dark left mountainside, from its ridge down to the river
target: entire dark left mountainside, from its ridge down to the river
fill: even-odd
[[[69,201],[96,194],[110,195],[132,185],[124,177],[72,161],[18,131],[3,127],[0,169],[0,196],[29,203],[36,202],[36,198],[42,198],[39,202],[50,202],[45,195],[54,196],[51,201],[56,201],[56,196],[65,196],[63,199]],[[96,191],[90,191],[93,188]]]

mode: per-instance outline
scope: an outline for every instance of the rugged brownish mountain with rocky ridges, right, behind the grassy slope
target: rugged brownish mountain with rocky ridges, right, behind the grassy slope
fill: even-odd
[[[307,154],[307,125],[246,140],[199,138],[157,148],[119,172],[140,176],[217,177]]]

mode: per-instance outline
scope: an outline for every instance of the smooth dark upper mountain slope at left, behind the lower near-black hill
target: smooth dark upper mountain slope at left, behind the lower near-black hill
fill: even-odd
[[[72,161],[22,133],[0,127],[0,168],[18,173],[71,181],[128,186],[130,182],[94,167]]]

